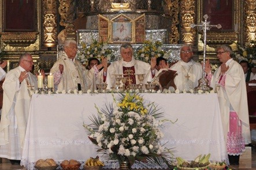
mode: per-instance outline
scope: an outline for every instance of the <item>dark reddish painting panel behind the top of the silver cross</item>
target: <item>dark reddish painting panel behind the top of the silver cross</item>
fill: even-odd
[[[203,1],[203,15],[209,16],[207,21],[211,25],[221,24],[221,29],[211,28],[212,31],[233,31],[234,29],[234,2],[233,0]]]

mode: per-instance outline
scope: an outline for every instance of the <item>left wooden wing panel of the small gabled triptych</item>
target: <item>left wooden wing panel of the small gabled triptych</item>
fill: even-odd
[[[99,41],[109,43],[109,28],[109,19],[99,14]]]

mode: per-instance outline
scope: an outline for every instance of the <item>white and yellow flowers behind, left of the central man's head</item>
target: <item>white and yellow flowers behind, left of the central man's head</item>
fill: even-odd
[[[113,61],[113,50],[107,47],[107,43],[92,39],[91,44],[81,43],[81,49],[77,52],[76,59],[83,65],[88,65],[90,58],[97,58],[101,61],[102,57],[107,58],[107,61]]]

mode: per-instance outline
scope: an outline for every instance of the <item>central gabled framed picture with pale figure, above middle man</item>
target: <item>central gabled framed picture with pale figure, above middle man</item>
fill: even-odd
[[[120,14],[111,20],[110,43],[133,43],[132,20]]]

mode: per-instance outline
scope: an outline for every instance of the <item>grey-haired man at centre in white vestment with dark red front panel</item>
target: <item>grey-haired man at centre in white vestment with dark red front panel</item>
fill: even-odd
[[[138,61],[133,58],[133,48],[131,44],[123,44],[120,48],[120,51],[121,59],[119,61],[113,62],[107,68],[107,89],[112,89],[112,87],[115,86],[115,74],[124,74],[125,77],[128,77],[127,83],[125,85],[140,84],[138,75],[136,74],[144,74],[144,80],[142,82],[143,84],[147,84],[147,81],[152,80],[151,66],[149,65],[149,63]],[[121,86],[123,86],[122,82]]]

